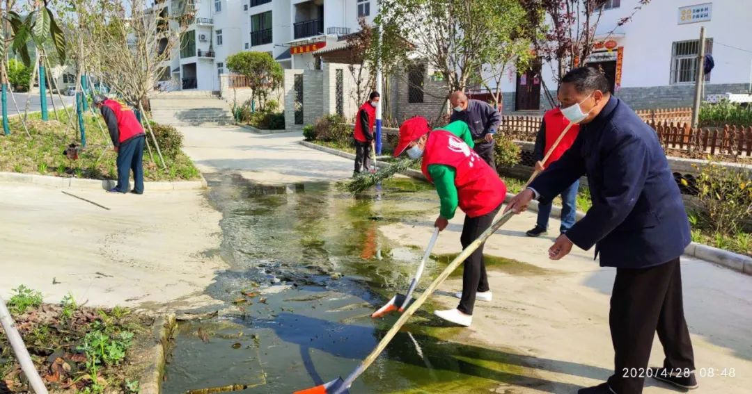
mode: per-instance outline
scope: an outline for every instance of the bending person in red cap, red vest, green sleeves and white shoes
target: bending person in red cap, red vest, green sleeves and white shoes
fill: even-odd
[[[423,175],[436,186],[441,210],[434,223],[438,230],[449,224],[457,207],[465,212],[460,242],[466,248],[490,227],[507,193],[506,185],[481,156],[473,150],[473,137],[465,122],[456,121],[431,131],[425,118],[416,116],[399,128],[394,156],[408,152],[423,158]],[[462,293],[456,309],[435,311],[444,320],[470,326],[475,299],[491,300],[483,245],[465,260]]]

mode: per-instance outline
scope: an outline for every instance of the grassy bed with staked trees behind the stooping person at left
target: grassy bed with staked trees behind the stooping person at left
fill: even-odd
[[[56,120],[56,114],[59,116],[59,122]],[[97,118],[91,113],[86,113],[83,119],[87,147],[81,150],[75,161],[62,155],[62,151],[69,144],[80,144],[80,134],[68,124],[68,116],[64,110],[58,110],[57,113],[50,112],[48,122],[41,121],[41,114],[30,113],[26,125],[29,127],[31,138],[26,136],[18,117],[9,119],[13,134],[0,136],[0,151],[3,152],[3,155],[0,155],[0,171],[86,179],[117,179],[115,165],[117,153],[112,148],[104,122],[99,119],[99,123],[105,130],[102,132],[99,130]],[[154,155],[156,158],[156,152]],[[199,170],[179,149],[174,155],[165,155],[165,162],[167,170],[163,170],[161,164],[151,161],[148,151],[144,150],[144,179],[147,181],[200,179]]]

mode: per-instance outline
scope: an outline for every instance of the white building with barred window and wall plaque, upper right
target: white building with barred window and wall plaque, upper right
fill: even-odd
[[[635,109],[686,107],[693,101],[700,26],[715,68],[706,76],[705,94],[747,92],[752,76],[752,1],[672,0],[650,2],[623,26],[638,0],[610,0],[596,30],[596,50],[584,62],[602,68],[617,97]],[[539,110],[542,77],[555,91],[553,65],[525,74],[511,71],[502,83],[504,111]],[[553,96],[556,93],[553,92]]]

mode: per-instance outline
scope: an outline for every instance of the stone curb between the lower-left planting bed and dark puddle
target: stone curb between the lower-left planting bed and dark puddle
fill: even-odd
[[[174,314],[157,317],[154,320],[152,338],[156,341],[156,344],[149,350],[149,354],[153,358],[150,359],[149,365],[141,374],[141,379],[138,380],[141,394],[159,394],[159,392],[162,392],[165,357],[168,354],[168,345],[174,336],[175,327]]]

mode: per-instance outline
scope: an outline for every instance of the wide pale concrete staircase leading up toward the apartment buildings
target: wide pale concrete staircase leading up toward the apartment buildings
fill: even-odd
[[[150,97],[154,122],[173,126],[232,125],[229,105],[216,92],[159,92]]]

